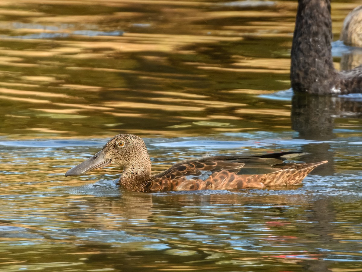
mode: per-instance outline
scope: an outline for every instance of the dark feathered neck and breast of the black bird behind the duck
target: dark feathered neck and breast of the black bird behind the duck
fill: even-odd
[[[362,92],[362,65],[337,71],[331,53],[329,0],[298,0],[291,50],[290,81],[294,91],[310,94]]]

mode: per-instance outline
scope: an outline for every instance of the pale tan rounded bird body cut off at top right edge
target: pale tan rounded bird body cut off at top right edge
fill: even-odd
[[[362,5],[344,19],[340,40],[346,45],[362,47]]]

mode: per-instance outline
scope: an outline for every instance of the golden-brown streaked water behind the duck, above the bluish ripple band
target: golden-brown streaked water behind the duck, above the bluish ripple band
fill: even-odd
[[[273,116],[290,126],[288,107],[254,95],[289,88],[295,1],[82,1],[82,14],[62,4],[1,3],[2,135],[252,131]],[[344,5],[332,6],[334,32]]]

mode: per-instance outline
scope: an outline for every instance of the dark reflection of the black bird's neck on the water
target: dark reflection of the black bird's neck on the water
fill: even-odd
[[[313,154],[313,158],[320,160],[322,158],[329,161],[323,169],[317,170],[318,173],[333,173],[335,153],[329,140],[336,139],[336,119],[338,123],[343,124],[339,132],[346,131],[350,133],[360,133],[359,126],[357,130],[355,119],[362,118],[362,95],[340,95],[340,96],[321,96],[308,95],[303,93],[294,94],[292,97],[291,121],[292,129],[299,133],[298,138],[327,141],[317,145],[305,145],[303,150]],[[356,142],[358,144],[358,142]],[[327,169],[329,169],[327,171]]]

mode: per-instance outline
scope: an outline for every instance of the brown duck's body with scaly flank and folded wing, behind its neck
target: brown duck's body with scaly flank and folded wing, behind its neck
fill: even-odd
[[[148,190],[261,188],[265,185],[258,179],[271,173],[280,172],[283,168],[275,165],[283,164],[287,158],[302,154],[304,153],[281,152],[242,157],[220,155],[181,161],[164,172],[152,176],[149,180]],[[287,169],[289,172],[296,171],[295,168]]]

